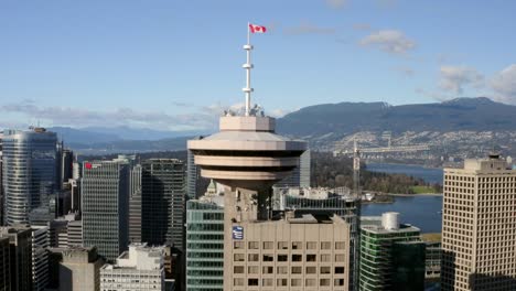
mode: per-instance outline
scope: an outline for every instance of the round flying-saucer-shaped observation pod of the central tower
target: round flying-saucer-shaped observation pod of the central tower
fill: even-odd
[[[232,188],[258,191],[289,176],[307,150],[304,141],[275,133],[271,117],[221,117],[221,131],[187,143],[201,175]]]

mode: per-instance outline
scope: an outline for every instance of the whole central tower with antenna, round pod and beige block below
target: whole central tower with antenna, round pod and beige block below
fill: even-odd
[[[337,216],[272,217],[271,186],[291,174],[307,143],[277,134],[275,118],[251,108],[252,48],[244,45],[245,111],[226,112],[219,132],[187,143],[201,175],[225,187],[224,290],[344,290],[348,224]]]

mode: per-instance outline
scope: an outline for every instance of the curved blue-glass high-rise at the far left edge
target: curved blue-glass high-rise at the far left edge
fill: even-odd
[[[6,222],[26,224],[57,188],[57,137],[43,128],[7,130],[2,142]]]

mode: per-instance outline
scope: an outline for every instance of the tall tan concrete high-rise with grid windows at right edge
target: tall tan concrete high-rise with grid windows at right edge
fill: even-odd
[[[441,288],[516,290],[516,170],[497,154],[444,169]]]

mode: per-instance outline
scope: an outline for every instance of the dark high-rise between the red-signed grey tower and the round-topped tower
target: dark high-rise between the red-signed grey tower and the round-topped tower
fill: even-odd
[[[184,250],[184,164],[175,159],[141,163],[141,241]]]

